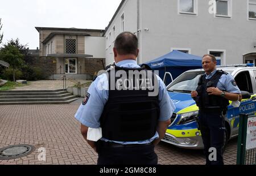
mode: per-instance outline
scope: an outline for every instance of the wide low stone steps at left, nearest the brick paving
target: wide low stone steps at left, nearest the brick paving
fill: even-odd
[[[0,105],[69,104],[78,97],[63,89],[42,91],[0,91]]]

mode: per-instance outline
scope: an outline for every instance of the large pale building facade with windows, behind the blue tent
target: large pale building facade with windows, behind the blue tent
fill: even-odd
[[[255,63],[255,28],[256,0],[123,0],[104,33],[106,64],[123,31],[138,36],[138,63],[172,50],[213,54],[222,65]]]

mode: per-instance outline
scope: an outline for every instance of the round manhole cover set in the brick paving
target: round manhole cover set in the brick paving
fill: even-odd
[[[27,156],[35,147],[33,145],[10,145],[0,149],[0,160],[11,160]]]

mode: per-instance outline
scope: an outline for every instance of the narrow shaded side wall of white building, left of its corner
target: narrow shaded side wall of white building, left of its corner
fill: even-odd
[[[113,27],[115,26],[115,37],[119,35],[121,31],[121,16],[125,16],[125,31],[136,32],[137,31],[137,1],[135,0],[126,0],[122,7],[119,9],[118,14],[115,15],[113,22],[105,33],[105,38],[108,37],[111,32],[112,38],[109,41],[106,41],[105,53],[106,53],[106,65],[114,62],[114,40],[113,40]],[[114,38],[115,38],[114,37]]]

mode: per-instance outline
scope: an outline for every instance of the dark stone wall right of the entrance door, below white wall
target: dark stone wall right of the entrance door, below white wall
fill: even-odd
[[[93,76],[95,72],[104,70],[102,61],[105,67],[105,58],[85,58],[85,74]]]

